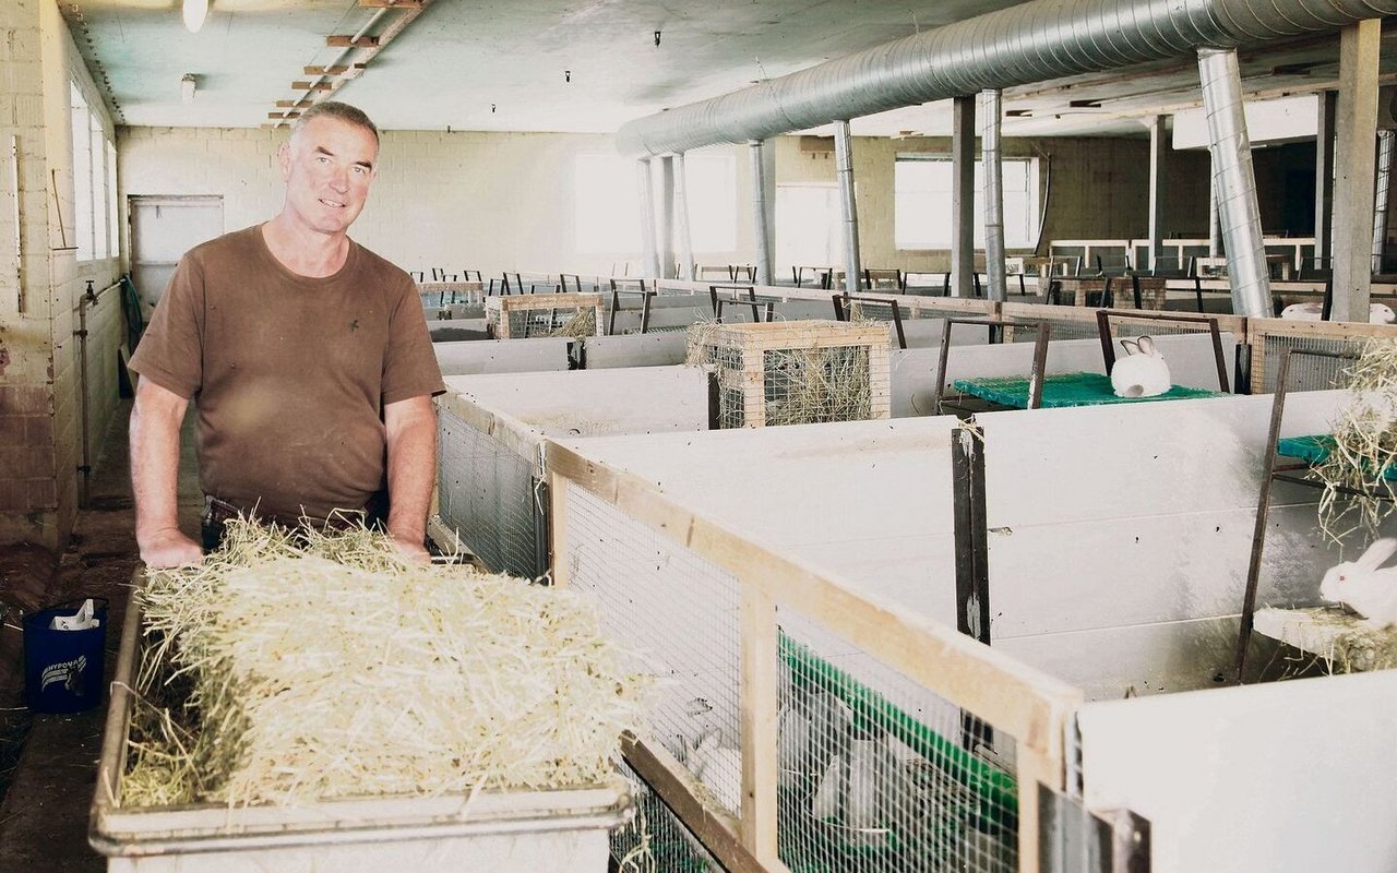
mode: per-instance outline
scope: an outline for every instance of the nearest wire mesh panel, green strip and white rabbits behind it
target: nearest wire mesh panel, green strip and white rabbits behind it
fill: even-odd
[[[781,860],[1017,870],[1013,738],[789,609],[780,622]]]

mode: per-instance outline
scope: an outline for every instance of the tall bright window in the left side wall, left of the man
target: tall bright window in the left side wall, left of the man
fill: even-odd
[[[80,261],[116,257],[116,145],[106,138],[102,119],[94,113],[77,82],[68,82],[73,130],[73,237]]]

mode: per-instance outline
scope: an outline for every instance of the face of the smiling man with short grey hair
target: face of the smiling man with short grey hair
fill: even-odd
[[[286,212],[320,233],[344,233],[369,198],[379,145],[356,124],[320,116],[281,147]]]

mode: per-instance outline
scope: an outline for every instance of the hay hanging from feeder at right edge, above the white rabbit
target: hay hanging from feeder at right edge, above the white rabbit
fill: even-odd
[[[1344,376],[1354,399],[1333,422],[1329,455],[1313,468],[1324,483],[1319,527],[1334,542],[1356,529],[1376,536],[1397,499],[1397,339],[1369,339]]]

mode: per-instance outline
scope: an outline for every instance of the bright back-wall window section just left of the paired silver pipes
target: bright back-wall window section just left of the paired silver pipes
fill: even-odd
[[[620,155],[577,155],[573,226],[578,254],[640,250],[637,162]]]

